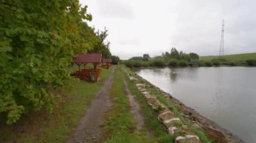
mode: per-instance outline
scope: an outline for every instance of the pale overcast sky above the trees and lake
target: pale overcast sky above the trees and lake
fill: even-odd
[[[200,56],[218,55],[222,19],[225,54],[256,52],[254,0],[80,0],[89,23],[108,30],[110,51],[122,59],[156,56],[176,47]]]

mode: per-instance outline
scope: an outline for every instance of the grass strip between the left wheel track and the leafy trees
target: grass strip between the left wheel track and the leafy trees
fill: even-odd
[[[92,97],[102,87],[111,69],[102,69],[101,80],[87,83],[77,79],[70,81],[71,91],[58,92],[57,104],[53,113],[45,110],[28,113],[11,126],[0,120],[1,142],[65,142]]]

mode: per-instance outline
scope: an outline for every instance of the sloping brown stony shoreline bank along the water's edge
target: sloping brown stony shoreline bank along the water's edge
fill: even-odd
[[[135,72],[133,72],[133,73],[135,73]],[[143,79],[136,73],[135,73],[135,75],[137,77],[139,77],[140,79]],[[181,110],[184,117],[186,117],[193,124],[195,124],[196,126],[201,128],[201,130],[203,130],[203,132],[205,132],[207,134],[207,136],[210,136],[210,138],[213,138],[217,142],[223,142],[223,143],[224,142],[232,142],[232,143],[243,142],[243,140],[238,138],[238,136],[232,134],[232,132],[230,132],[229,130],[222,128],[221,126],[216,124],[216,122],[213,122],[209,118],[204,117],[203,115],[198,113],[195,109],[193,109],[191,107],[187,107],[184,103],[179,101],[179,99],[176,99],[175,97],[170,95],[170,93],[166,93],[165,91],[163,91],[159,87],[156,87],[156,85],[153,85],[146,79],[143,79],[143,80],[146,81],[147,83],[149,83],[155,89],[157,89],[160,93],[162,93],[165,97],[167,97],[167,99],[172,101],[172,103],[174,103],[174,105],[176,105]]]

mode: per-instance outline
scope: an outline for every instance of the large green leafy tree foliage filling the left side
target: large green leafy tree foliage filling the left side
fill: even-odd
[[[22,113],[52,109],[73,56],[98,44],[78,0],[0,1],[0,113],[7,124]],[[51,89],[51,90],[50,90]]]

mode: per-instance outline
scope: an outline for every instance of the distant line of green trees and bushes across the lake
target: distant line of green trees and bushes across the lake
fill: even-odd
[[[164,52],[161,56],[155,56],[150,58],[149,54],[143,54],[143,56],[134,56],[129,60],[124,60],[123,63],[132,68],[148,67],[148,66],[256,66],[255,59],[249,60],[226,60],[225,58],[214,58],[212,60],[199,60],[199,55],[196,53],[186,54],[183,51],[178,51],[176,48],[172,48],[170,52]]]

